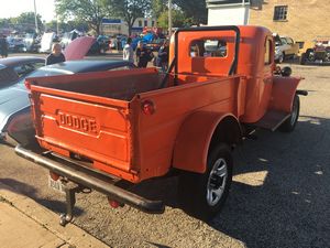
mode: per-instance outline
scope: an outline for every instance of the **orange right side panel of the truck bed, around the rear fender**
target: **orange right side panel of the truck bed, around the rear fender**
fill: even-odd
[[[168,172],[173,163],[172,158],[179,129],[193,111],[204,109],[219,116],[223,111],[237,115],[235,96],[240,83],[239,76],[215,78],[207,83],[186,84],[162,91],[141,94],[141,103],[151,100],[155,106],[155,114],[151,116],[141,114],[136,125],[140,130],[136,133],[136,141],[139,141],[140,163],[143,169],[140,172],[141,179],[160,176]],[[201,157],[205,157],[206,151],[199,152]],[[205,164],[200,164],[200,168],[202,170]]]

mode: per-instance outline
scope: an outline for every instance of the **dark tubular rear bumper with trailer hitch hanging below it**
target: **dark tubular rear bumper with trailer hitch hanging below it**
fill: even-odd
[[[66,213],[61,215],[59,224],[62,226],[65,226],[73,219],[73,208],[76,203],[75,194],[89,193],[91,190],[106,194],[112,202],[119,205],[128,204],[145,213],[162,214],[165,211],[165,205],[162,201],[147,200],[134,194],[127,188],[116,185],[116,182],[111,177],[96,173],[82,164],[74,163],[74,161],[67,158],[64,160],[58,155],[53,155],[50,151],[29,150],[20,144],[15,147],[15,152],[20,157],[48,169],[53,175],[55,174],[55,177],[57,174],[65,179]],[[69,164],[67,164],[68,162]]]

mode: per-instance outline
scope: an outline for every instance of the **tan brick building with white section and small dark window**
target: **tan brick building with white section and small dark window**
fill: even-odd
[[[209,25],[263,25],[298,42],[330,36],[329,0],[206,0]]]

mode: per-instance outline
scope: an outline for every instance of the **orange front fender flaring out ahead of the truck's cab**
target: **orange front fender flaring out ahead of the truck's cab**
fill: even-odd
[[[270,109],[290,112],[301,79],[300,77],[274,77]]]

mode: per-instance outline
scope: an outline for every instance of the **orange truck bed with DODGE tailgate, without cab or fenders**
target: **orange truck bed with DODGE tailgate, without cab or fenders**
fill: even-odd
[[[231,96],[239,90],[239,76],[189,78],[189,84],[164,89],[154,68],[29,78],[36,138],[47,150],[87,158],[94,169],[131,182],[163,175],[191,111],[210,105],[210,110],[238,112]],[[200,94],[209,97],[198,99]],[[156,115],[142,112],[145,100],[155,103]]]

